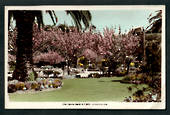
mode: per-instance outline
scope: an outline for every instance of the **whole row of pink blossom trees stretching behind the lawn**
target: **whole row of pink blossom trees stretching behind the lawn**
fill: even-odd
[[[81,32],[74,27],[68,30],[62,31],[58,27],[39,30],[34,24],[34,62],[44,60],[52,64],[69,60],[69,63],[76,65],[81,56],[92,62],[101,61],[100,57],[103,57],[110,62],[110,69],[115,69],[116,63],[124,63],[126,56],[134,55],[140,44],[140,37],[131,33],[117,35],[112,28],[105,28],[103,33]],[[16,39],[15,31],[9,35],[10,39]]]

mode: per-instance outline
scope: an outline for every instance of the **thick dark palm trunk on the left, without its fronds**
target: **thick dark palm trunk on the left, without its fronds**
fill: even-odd
[[[32,69],[32,34],[34,16],[31,11],[15,12],[16,27],[18,30],[16,45],[16,68],[13,78],[19,81],[26,81],[29,70]]]

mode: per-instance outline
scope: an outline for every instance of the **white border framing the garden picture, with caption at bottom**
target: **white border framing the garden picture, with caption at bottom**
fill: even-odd
[[[8,10],[162,10],[162,102],[10,102],[5,77],[5,109],[165,109],[165,6],[164,5],[124,5],[124,6],[5,6],[5,76],[8,62]],[[64,105],[80,104],[80,105]],[[89,104],[89,105],[86,105]]]

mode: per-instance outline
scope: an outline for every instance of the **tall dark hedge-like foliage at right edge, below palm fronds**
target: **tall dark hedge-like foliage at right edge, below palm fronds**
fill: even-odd
[[[161,34],[148,34],[146,40],[145,71],[154,75],[161,71]]]

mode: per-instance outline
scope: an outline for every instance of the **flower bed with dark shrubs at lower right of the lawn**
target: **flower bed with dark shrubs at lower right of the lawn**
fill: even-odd
[[[132,96],[126,97],[126,102],[161,102],[161,76],[146,76],[139,74],[136,76],[125,77],[122,82],[134,84],[147,84],[148,88],[137,90]],[[137,83],[139,82],[139,83]],[[128,88],[129,91],[132,87]]]

